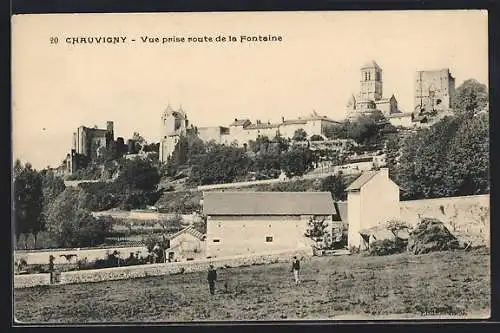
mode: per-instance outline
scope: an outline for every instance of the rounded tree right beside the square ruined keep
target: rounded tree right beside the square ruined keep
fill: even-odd
[[[488,104],[488,99],[486,85],[475,79],[468,79],[456,89],[452,107],[457,113],[474,113],[483,110]]]

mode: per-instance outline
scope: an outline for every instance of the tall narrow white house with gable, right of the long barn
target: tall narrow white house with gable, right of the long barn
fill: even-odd
[[[366,171],[349,185],[347,216],[349,216],[349,247],[366,248],[360,231],[391,219],[398,219],[399,186],[389,178],[389,170]]]

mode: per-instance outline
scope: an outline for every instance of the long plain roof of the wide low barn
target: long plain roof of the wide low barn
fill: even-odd
[[[333,215],[330,192],[204,192],[207,215]]]

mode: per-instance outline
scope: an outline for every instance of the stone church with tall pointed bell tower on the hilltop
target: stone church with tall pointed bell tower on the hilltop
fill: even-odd
[[[394,95],[389,98],[383,97],[382,68],[372,60],[363,65],[360,71],[360,90],[357,97],[353,94],[347,102],[347,118],[353,119],[377,111],[386,117],[399,113],[396,97]]]

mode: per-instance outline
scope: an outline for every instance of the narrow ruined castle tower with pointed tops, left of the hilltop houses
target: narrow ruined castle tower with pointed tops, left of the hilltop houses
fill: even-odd
[[[182,107],[178,110],[174,110],[168,105],[165,111],[163,111],[161,121],[162,133],[159,159],[161,162],[166,162],[168,157],[174,152],[179,139],[186,135],[188,119]]]

